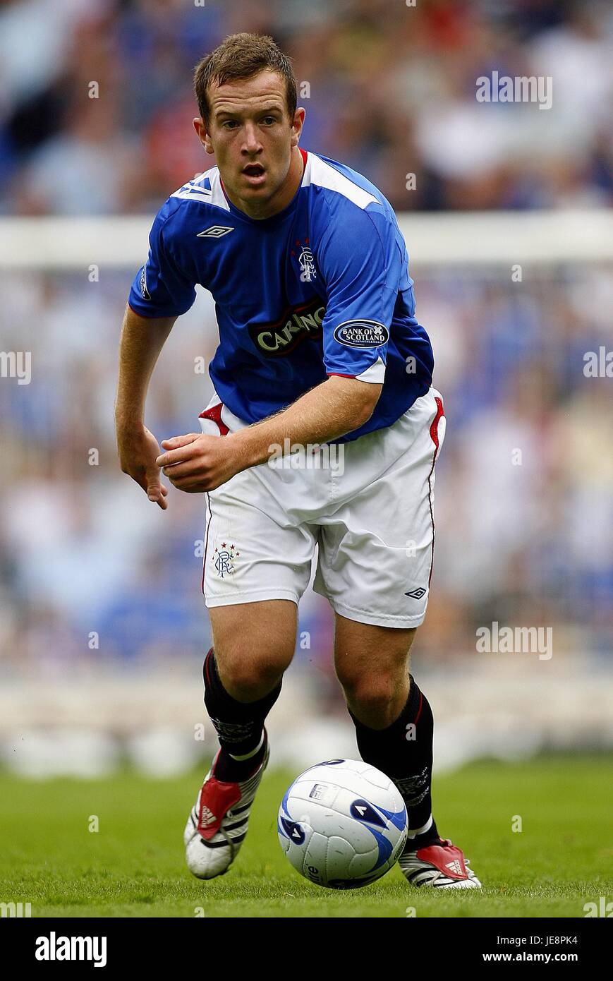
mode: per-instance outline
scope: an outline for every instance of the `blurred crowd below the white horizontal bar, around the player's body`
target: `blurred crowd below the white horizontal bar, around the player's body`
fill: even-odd
[[[552,627],[556,661],[604,664],[613,409],[611,380],[584,368],[587,351],[613,350],[610,271],[559,269],[523,284],[499,271],[414,273],[447,417],[418,663],[475,655],[477,628],[498,621]],[[0,649],[3,671],[18,675],[119,660],[150,670],[199,661],[209,645],[203,496],[171,488],[163,512],[119,470],[113,401],[131,275],[83,279],[0,279],[3,347],[32,352],[30,384],[0,385]],[[158,439],[199,431],[211,389],[195,369],[216,343],[213,303],[199,289],[153,378],[146,423]],[[330,608],[308,592],[300,614],[297,660],[333,703]]]

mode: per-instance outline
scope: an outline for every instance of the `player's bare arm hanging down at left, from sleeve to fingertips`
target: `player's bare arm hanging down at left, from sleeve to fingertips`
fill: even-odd
[[[140,317],[126,308],[119,352],[115,431],[122,470],[146,490],[149,500],[168,507],[160,482],[157,439],[145,427],[145,399],[160,351],[177,317]]]

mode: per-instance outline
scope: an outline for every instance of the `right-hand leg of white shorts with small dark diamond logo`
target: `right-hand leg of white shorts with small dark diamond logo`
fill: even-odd
[[[423,622],[434,556],[434,463],[443,435],[442,399],[431,389],[393,426],[347,445],[339,504],[318,521],[314,583],[337,614],[403,630]]]

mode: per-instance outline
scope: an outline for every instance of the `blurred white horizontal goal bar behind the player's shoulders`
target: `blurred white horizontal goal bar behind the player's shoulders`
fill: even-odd
[[[613,210],[404,212],[413,266],[557,266],[613,260]],[[153,216],[0,218],[0,269],[135,270]]]

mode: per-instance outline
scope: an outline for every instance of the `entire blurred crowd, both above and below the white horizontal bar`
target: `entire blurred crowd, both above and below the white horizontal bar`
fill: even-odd
[[[153,214],[212,162],[191,129],[191,72],[236,30],[272,33],[294,59],[303,145],[364,173],[399,211],[611,203],[610,4],[5,0],[0,211]],[[552,77],[552,108],[478,103],[476,78],[494,70]],[[209,644],[203,499],[171,490],[162,512],[116,456],[136,265],[97,283],[0,273],[0,347],[32,353],[31,383],[0,385],[8,673],[198,660]],[[499,270],[413,272],[447,416],[416,652],[448,665],[498,621],[552,626],[558,653],[598,660],[613,642],[611,381],[587,378],[584,355],[613,349],[610,270],[533,271],[523,284]],[[194,359],[208,364],[216,343],[199,290],[154,376],[146,422],[158,439],[197,430],[210,383]],[[333,703],[331,623],[326,600],[307,594],[297,656]]]

